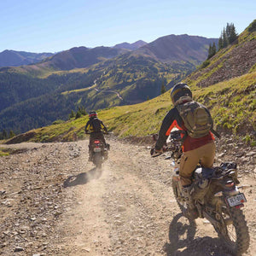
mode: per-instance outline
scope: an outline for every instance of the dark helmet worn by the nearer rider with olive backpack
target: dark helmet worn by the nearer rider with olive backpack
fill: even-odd
[[[172,103],[174,106],[183,102],[192,101],[192,91],[188,84],[175,84],[171,91]]]

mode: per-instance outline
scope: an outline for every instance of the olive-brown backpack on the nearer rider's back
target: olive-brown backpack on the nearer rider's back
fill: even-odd
[[[212,131],[213,121],[208,109],[198,102],[186,102],[176,106],[190,137],[205,137]]]

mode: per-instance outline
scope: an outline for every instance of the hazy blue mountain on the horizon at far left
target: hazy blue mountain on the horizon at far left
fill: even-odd
[[[43,61],[53,53],[32,53],[26,51],[3,50],[0,53],[0,67],[18,67]]]

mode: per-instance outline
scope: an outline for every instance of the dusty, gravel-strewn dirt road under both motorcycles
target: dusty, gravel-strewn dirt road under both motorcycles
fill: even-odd
[[[8,146],[13,154],[0,158],[1,255],[230,255],[206,219],[189,225],[180,214],[171,160],[152,159],[146,146],[108,142],[101,177],[87,161],[88,141]],[[220,158],[241,162],[241,183],[252,185],[244,255],[253,256],[256,170],[253,154],[234,148]]]

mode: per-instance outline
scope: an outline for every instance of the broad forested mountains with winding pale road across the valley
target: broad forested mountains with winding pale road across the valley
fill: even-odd
[[[49,125],[67,119],[79,106],[89,111],[159,96],[162,84],[170,89],[207,59],[210,43],[207,38],[172,35],[136,50],[76,47],[37,64],[3,67],[0,131]]]

